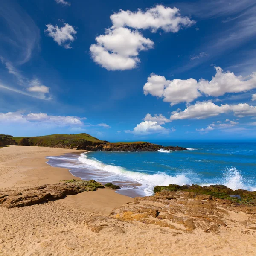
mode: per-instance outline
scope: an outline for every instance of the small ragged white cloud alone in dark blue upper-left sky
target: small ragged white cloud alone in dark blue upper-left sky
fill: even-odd
[[[44,31],[49,37],[52,37],[58,45],[63,46],[66,49],[71,49],[70,44],[75,40],[73,35],[76,35],[76,30],[73,26],[64,23],[63,27],[53,26],[47,24],[47,29]]]

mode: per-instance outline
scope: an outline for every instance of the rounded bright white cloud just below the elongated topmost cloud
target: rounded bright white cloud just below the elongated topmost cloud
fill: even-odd
[[[149,38],[128,28],[107,29],[96,37],[97,44],[90,46],[93,60],[107,70],[128,70],[137,67],[140,51],[154,46]]]

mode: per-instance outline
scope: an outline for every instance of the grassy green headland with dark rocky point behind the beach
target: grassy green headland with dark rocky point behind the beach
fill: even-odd
[[[187,148],[179,146],[162,146],[149,142],[108,142],[99,140],[89,134],[52,134],[37,137],[13,137],[0,134],[0,146],[41,146],[52,148],[69,148],[88,151],[125,151],[125,152],[154,152],[160,149],[181,151]]]

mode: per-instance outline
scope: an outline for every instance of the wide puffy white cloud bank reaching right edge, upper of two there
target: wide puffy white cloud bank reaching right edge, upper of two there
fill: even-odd
[[[215,70],[216,74],[211,81],[205,79],[197,81],[193,78],[166,80],[164,76],[151,73],[143,91],[145,95],[161,97],[164,102],[175,105],[180,102],[192,102],[202,93],[217,97],[225,93],[241,93],[256,88],[255,72],[250,76],[243,77],[236,76],[230,71],[224,72],[221,67],[215,67]]]

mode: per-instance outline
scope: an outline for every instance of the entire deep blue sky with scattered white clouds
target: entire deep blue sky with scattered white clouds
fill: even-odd
[[[252,0],[0,4],[0,133],[256,138]]]

